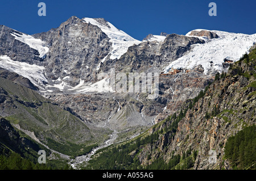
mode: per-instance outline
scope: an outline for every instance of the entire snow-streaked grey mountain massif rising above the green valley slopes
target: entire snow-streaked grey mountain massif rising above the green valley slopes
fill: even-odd
[[[200,29],[186,35],[150,34],[139,41],[103,18],[76,16],[35,35],[0,29],[0,67],[30,79],[40,94],[53,96],[98,127],[105,120],[113,127],[158,122],[159,113],[173,112],[195,97],[216,71],[226,70],[256,42],[256,34]],[[159,72],[159,97],[149,104],[143,94],[117,94],[110,87],[113,68],[126,74]],[[98,79],[100,73],[107,75]],[[87,94],[93,95],[90,101],[77,99]],[[114,107],[106,111],[105,104]]]

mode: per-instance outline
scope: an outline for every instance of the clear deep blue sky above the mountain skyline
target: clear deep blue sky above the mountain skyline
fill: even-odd
[[[38,16],[38,3],[46,3],[46,16]],[[209,16],[210,2],[217,16]],[[45,32],[75,15],[105,18],[135,39],[152,33],[177,33],[201,28],[256,33],[255,0],[0,0],[0,24],[34,34]]]

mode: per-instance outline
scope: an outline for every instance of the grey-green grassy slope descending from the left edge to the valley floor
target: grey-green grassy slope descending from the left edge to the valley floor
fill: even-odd
[[[51,100],[24,86],[0,78],[0,87],[8,94],[9,102],[2,103],[5,119],[11,124],[34,132],[50,148],[67,155],[88,152],[92,145],[89,128],[76,116],[63,110]],[[95,145],[94,145],[95,146]]]

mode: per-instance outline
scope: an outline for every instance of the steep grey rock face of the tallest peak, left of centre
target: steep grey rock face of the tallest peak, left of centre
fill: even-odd
[[[49,54],[43,62],[47,77],[64,78],[71,86],[80,79],[93,81],[99,62],[110,52],[109,37],[97,26],[72,16],[58,28],[33,35],[46,41]]]

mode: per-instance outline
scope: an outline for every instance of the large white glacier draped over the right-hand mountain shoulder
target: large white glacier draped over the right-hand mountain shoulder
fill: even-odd
[[[195,31],[201,31],[201,29]],[[164,68],[164,73],[168,73],[172,68],[193,69],[197,65],[203,66],[205,74],[207,74],[209,70],[222,71],[224,58],[238,61],[242,55],[248,52],[250,47],[256,43],[256,34],[246,35],[224,31],[205,31],[214,32],[219,37],[209,40],[207,37],[199,37],[200,39],[204,39],[205,43],[192,45],[192,49],[183,57],[172,61]],[[188,32],[185,36],[189,36],[190,33],[191,32]]]

